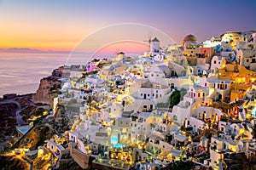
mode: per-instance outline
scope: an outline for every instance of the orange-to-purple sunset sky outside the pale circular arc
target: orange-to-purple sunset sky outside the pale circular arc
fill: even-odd
[[[177,43],[191,33],[201,42],[225,31],[255,31],[255,8],[255,0],[0,0],[0,48],[72,50],[120,23],[153,26]]]

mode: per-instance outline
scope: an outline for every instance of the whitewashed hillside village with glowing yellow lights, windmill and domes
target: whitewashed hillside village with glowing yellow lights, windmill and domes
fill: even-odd
[[[56,134],[38,147],[33,166],[255,168],[256,32],[204,42],[188,35],[167,48],[155,37],[149,48],[54,71],[61,88],[44,123]]]

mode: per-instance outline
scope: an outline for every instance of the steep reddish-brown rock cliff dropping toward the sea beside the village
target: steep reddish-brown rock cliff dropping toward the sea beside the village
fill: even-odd
[[[58,89],[61,88],[61,81],[56,77],[44,77],[40,81],[37,93],[32,95],[33,102],[35,104],[49,104],[51,103],[51,94],[58,93]]]

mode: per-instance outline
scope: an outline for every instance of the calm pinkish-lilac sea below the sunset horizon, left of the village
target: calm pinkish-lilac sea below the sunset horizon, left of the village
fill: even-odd
[[[65,65],[68,54],[0,53],[0,98],[3,94],[30,94],[40,80]]]

